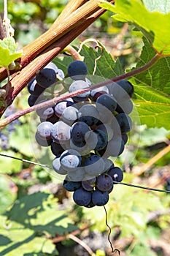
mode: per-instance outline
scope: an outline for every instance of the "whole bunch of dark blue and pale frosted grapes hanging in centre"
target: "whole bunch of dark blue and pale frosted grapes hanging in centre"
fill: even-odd
[[[36,104],[37,99],[47,100],[43,92],[56,82],[57,72],[54,64],[48,64],[31,80],[29,105]],[[122,154],[128,141],[134,87],[128,80],[120,80],[90,90],[87,74],[83,61],[69,64],[69,92],[88,90],[36,110],[40,124],[35,138],[40,146],[50,147],[55,156],[53,169],[64,176],[63,187],[73,192],[74,202],[90,208],[104,206],[114,185],[123,180],[123,170],[109,157]]]

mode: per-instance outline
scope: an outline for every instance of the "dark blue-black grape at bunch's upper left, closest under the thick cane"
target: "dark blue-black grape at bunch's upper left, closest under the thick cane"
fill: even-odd
[[[39,86],[48,88],[56,82],[56,74],[54,69],[44,68],[36,74],[36,82]]]

